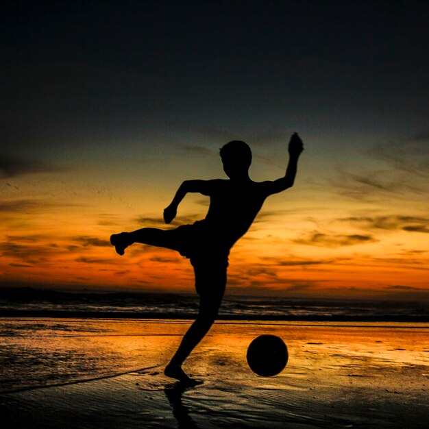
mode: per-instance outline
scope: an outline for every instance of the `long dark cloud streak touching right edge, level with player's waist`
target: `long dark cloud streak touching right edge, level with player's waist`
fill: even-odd
[[[429,219],[413,216],[361,216],[345,217],[339,221],[350,222],[366,229],[403,230],[408,232],[429,232]]]

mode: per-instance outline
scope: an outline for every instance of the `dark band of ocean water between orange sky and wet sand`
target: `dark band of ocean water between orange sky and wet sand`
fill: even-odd
[[[0,289],[0,317],[193,319],[198,297]],[[429,321],[429,303],[225,296],[223,320]]]

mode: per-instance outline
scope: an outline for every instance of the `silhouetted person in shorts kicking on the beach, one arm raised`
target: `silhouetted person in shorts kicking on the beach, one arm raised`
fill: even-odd
[[[302,151],[302,140],[295,133],[289,142],[289,164],[284,177],[254,182],[249,178],[252,151],[242,141],[231,141],[220,151],[223,170],[230,180],[186,180],[164,210],[164,221],[170,223],[186,193],[201,193],[210,197],[206,219],[173,230],[143,228],[110,237],[110,243],[119,255],[123,255],[126,247],[133,243],[143,243],[176,250],[191,260],[195,272],[195,289],[199,294],[199,313],[165,368],[166,376],[188,384],[195,383],[183,371],[182,363],[217,318],[225,292],[230,249],[252,225],[265,199],[293,186],[297,161]]]

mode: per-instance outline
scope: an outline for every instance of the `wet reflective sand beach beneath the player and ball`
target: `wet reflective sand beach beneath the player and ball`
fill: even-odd
[[[219,322],[162,375],[188,321],[0,319],[2,427],[426,428],[429,323]],[[289,363],[262,378],[249,343],[280,336]]]

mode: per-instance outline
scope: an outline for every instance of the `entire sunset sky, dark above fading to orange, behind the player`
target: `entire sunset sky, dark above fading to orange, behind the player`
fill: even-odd
[[[13,1],[3,6],[0,286],[193,292],[189,261],[110,234],[204,218],[183,180],[284,175],[228,293],[429,300],[427,1]]]

